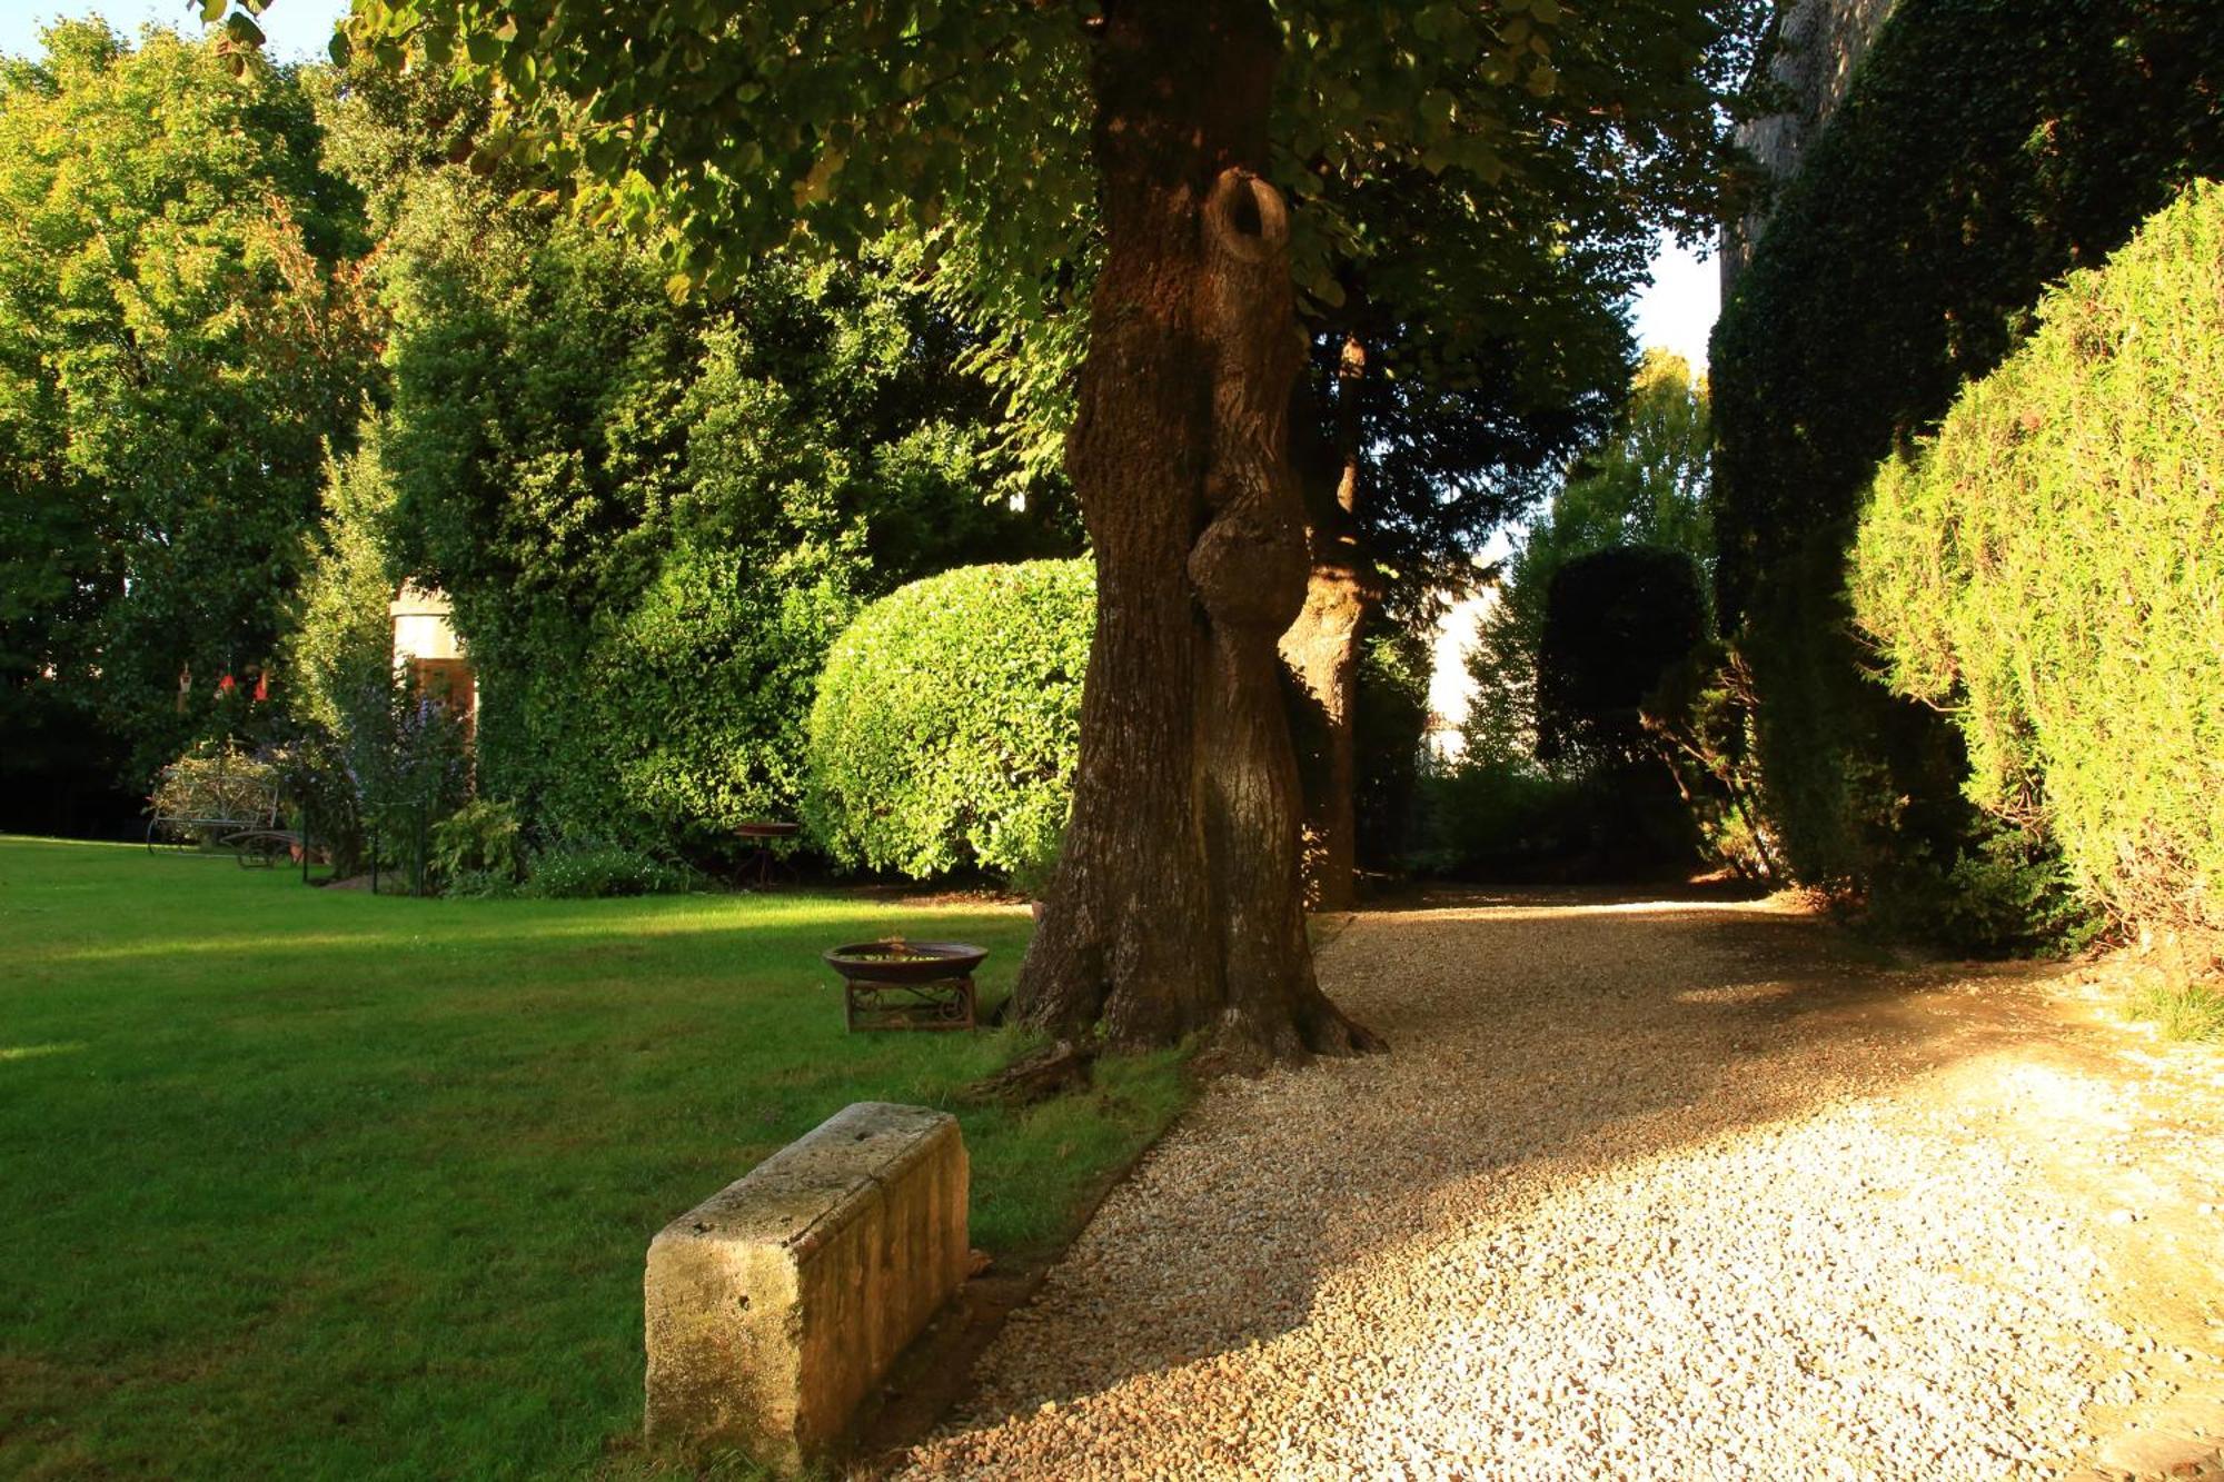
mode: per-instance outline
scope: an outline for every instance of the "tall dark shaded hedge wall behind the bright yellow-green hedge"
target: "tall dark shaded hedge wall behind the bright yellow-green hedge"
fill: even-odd
[[[1855,514],[2048,280],[2220,169],[2224,2],[1902,0],[1775,202],[1715,329],[1715,527],[1801,879],[1970,943],[2062,910],[2044,850],[1959,794],[1953,728],[1864,676]]]

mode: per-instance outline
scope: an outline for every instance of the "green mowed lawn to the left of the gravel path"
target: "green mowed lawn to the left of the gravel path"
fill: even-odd
[[[654,1471],[641,1266],[850,1101],[956,1110],[974,1244],[1061,1239],[1172,1055],[956,1106],[1012,1033],[845,1035],[818,952],[1030,921],[836,895],[416,901],[0,839],[0,1475]]]

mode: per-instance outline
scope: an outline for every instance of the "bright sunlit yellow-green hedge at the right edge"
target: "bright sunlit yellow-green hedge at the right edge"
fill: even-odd
[[[1853,603],[1968,797],[2126,919],[2224,926],[2224,187],[2195,185],[1935,441],[1884,463]]]

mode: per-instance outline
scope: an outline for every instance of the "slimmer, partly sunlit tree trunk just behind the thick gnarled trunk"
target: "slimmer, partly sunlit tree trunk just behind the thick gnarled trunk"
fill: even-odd
[[[1361,385],[1368,352],[1346,336],[1337,360],[1334,438],[1323,467],[1305,481],[1305,545],[1312,572],[1305,605],[1281,634],[1281,661],[1297,679],[1319,765],[1305,799],[1305,899],[1317,910],[1350,910],[1359,879],[1359,639],[1381,601],[1374,563],[1359,545],[1359,476],[1366,461]]]

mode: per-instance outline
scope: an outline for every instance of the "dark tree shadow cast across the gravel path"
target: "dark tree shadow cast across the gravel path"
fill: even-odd
[[[1477,1213],[1517,1166],[1610,1179],[2031,1033],[2019,995],[1966,992],[2031,966],[1888,970],[1810,915],[1639,895],[1359,917],[1321,977],[1392,1053],[1214,1086],[1052,1273],[1048,1313],[1003,1340],[1025,1393],[990,1375],[967,1429],[1290,1333],[1323,1282],[1523,1217],[1535,1197]],[[1259,1168],[1308,1197],[1261,1211]]]

